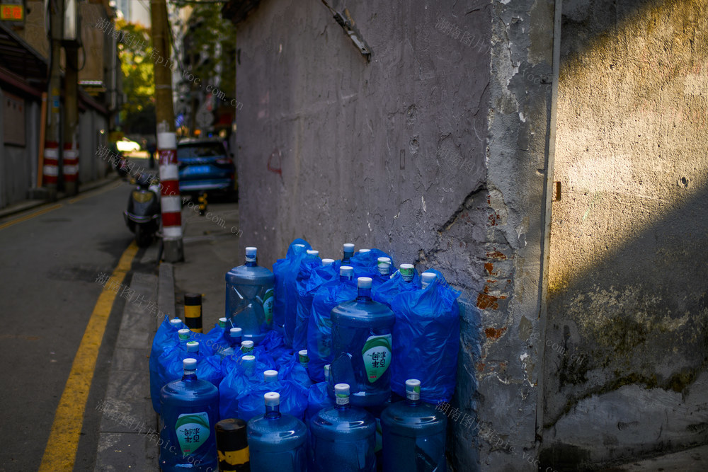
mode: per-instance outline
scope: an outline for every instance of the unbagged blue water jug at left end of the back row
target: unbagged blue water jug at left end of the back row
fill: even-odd
[[[246,263],[226,274],[226,318],[243,338],[260,343],[273,326],[273,272],[256,263],[256,248],[246,248]]]

